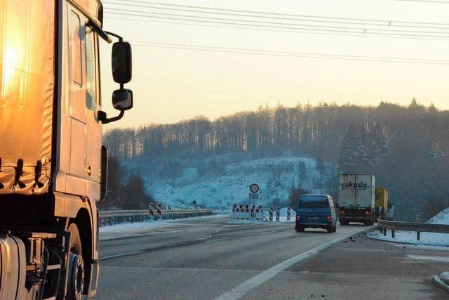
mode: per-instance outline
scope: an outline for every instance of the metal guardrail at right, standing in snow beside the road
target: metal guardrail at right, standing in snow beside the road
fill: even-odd
[[[391,230],[391,237],[394,238],[394,230],[416,231],[416,240],[420,240],[421,233],[449,233],[449,225],[429,224],[429,223],[411,223],[377,220],[377,228],[384,235],[387,235],[387,229]]]

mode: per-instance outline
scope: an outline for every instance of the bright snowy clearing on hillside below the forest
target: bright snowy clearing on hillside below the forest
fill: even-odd
[[[299,176],[301,165],[304,174]],[[227,164],[220,174],[211,176],[199,174],[197,168],[185,169],[175,180],[147,183],[147,188],[156,201],[166,206],[182,207],[182,203],[192,204],[195,200],[207,207],[231,207],[248,203],[251,183],[260,186],[260,200],[253,203],[266,205],[276,198],[286,200],[290,188],[298,184],[311,193],[319,192],[316,185],[321,179],[314,159],[276,157]]]

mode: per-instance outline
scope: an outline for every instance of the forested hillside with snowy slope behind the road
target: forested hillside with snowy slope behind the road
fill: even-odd
[[[338,173],[374,174],[389,191],[397,218],[424,221],[449,200],[448,132],[449,111],[415,99],[408,106],[279,105],[215,120],[114,129],[105,144],[122,169],[111,168],[108,178],[123,188],[109,199],[116,207],[133,207],[129,193],[145,185],[161,201],[220,206],[243,201],[251,181],[260,181],[264,201],[286,200],[290,188],[301,187],[298,176],[307,178],[303,188],[336,196]],[[311,164],[309,174],[295,171],[295,157],[313,158],[326,180],[311,175]],[[138,206],[145,207],[147,200],[140,199]]]

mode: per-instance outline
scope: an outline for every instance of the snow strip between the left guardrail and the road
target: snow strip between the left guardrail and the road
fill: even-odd
[[[177,225],[176,222],[186,220],[212,219],[228,216],[227,214],[214,214],[213,216],[197,216],[189,219],[173,219],[159,221],[143,221],[136,223],[121,223],[111,226],[100,227],[100,240],[113,240],[119,237],[133,237],[136,235],[146,235],[153,230],[168,228]]]

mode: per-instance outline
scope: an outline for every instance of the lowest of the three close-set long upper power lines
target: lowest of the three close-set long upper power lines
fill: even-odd
[[[313,28],[313,27],[289,27],[289,26],[274,26],[274,25],[264,25],[264,24],[242,24],[238,22],[226,22],[222,20],[213,21],[213,20],[196,20],[192,18],[175,18],[175,17],[161,17],[156,15],[142,15],[142,14],[131,14],[131,13],[107,13],[109,15],[128,15],[133,17],[143,17],[143,18],[156,18],[156,19],[163,19],[163,20],[181,20],[181,21],[188,21],[188,22],[206,22],[206,23],[212,23],[212,24],[220,24],[220,25],[243,25],[248,27],[262,27],[262,28],[275,28],[275,29],[282,29],[282,30],[306,30],[311,32],[337,32],[337,33],[353,33],[353,34],[375,34],[377,36],[382,35],[390,35],[394,37],[421,37],[421,38],[439,38],[439,39],[448,39],[449,35],[441,35],[441,34],[410,34],[410,33],[395,33],[395,32],[388,32],[384,33],[383,30],[374,30],[374,29],[360,29],[360,28],[351,28],[346,30],[340,30],[340,29],[325,29],[325,28]],[[125,19],[126,20],[126,19]],[[293,25],[294,26],[294,25]]]

